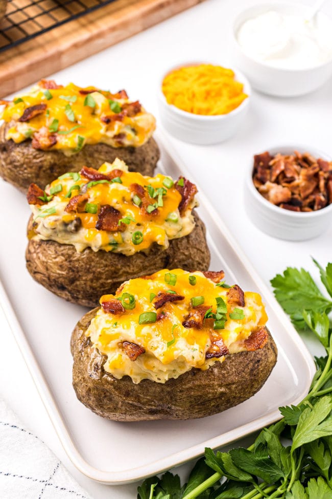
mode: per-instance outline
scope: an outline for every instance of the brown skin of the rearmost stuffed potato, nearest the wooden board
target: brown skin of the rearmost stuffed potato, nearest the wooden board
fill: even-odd
[[[0,127],[0,176],[22,192],[27,192],[31,183],[44,188],[67,171],[80,171],[84,165],[98,169],[105,161],[112,163],[115,158],[122,159],[129,171],[139,171],[152,177],[160,156],[153,138],[140,147],[114,148],[107,144],[88,144],[79,153],[65,156],[58,150],[34,149],[31,140],[19,144],[6,140],[10,126],[12,123],[4,123]]]

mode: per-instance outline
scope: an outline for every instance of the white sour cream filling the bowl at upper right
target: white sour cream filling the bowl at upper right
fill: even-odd
[[[255,60],[284,69],[306,69],[332,58],[332,22],[269,11],[248,19],[237,33],[243,51]]]

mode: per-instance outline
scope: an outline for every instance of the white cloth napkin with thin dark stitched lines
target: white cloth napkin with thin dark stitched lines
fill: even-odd
[[[53,452],[0,399],[1,499],[90,499]]]

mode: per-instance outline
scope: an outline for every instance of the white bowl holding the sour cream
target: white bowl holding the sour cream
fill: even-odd
[[[281,69],[247,55],[236,39],[240,26],[248,19],[264,12],[275,10],[281,14],[303,16],[310,13],[310,6],[293,2],[265,2],[249,7],[235,17],[231,29],[231,54],[235,66],[248,77],[253,88],[278,97],[293,97],[313,92],[332,75],[332,56],[322,64],[306,69]],[[317,13],[318,22],[332,19],[322,12]]]

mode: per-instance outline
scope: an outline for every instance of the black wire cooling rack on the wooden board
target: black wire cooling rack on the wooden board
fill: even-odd
[[[9,0],[0,20],[0,52],[77,19],[114,0]]]

